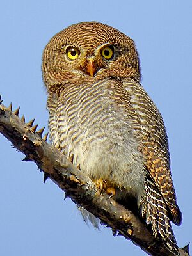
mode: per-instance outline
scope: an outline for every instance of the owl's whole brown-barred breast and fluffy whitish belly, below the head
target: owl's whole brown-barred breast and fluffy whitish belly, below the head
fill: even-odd
[[[48,100],[52,143],[73,156],[90,179],[126,189],[140,204],[145,180],[140,125],[124,84],[115,79],[66,84],[57,104],[54,97]]]

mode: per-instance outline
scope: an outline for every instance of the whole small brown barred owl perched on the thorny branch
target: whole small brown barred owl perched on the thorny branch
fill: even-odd
[[[125,207],[134,199],[154,235],[179,255],[168,138],[140,84],[132,39],[99,22],[74,24],[47,44],[42,70],[52,144]]]

